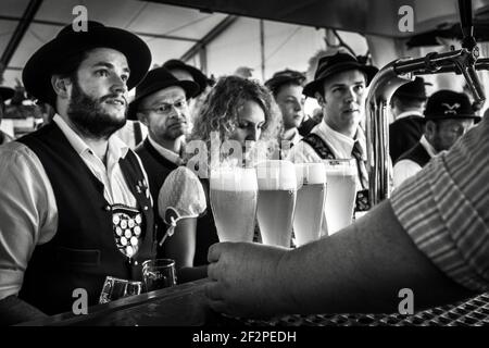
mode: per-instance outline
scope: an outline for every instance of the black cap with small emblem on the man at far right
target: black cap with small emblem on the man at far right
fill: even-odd
[[[468,96],[463,92],[442,89],[432,94],[426,102],[425,121],[431,120],[477,120]]]

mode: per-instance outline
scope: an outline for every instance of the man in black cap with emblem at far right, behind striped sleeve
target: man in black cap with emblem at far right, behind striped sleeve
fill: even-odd
[[[401,154],[393,166],[394,188],[419,172],[431,158],[449,150],[476,119],[471,100],[463,92],[439,90],[429,97],[423,136],[414,147]]]

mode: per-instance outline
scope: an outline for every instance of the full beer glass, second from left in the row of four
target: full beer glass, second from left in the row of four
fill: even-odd
[[[262,241],[290,247],[296,209],[296,167],[289,161],[265,161],[256,165],[258,222]]]

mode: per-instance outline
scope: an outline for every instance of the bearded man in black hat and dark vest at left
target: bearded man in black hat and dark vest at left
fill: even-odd
[[[141,281],[152,201],[139,158],[113,133],[150,63],[145,41],[97,22],[66,26],[27,61],[26,90],[57,115],[0,149],[2,322],[71,311],[75,289],[96,304],[106,276]]]

